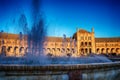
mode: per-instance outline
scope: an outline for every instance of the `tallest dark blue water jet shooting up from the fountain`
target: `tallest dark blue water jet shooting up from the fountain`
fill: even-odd
[[[42,54],[40,50],[43,47],[43,41],[45,37],[45,25],[40,11],[41,0],[32,1],[32,28],[28,31],[28,47],[32,49],[32,54]]]

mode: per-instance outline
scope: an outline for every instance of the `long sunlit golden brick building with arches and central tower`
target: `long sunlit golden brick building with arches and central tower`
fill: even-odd
[[[24,56],[29,53],[27,36],[0,32],[0,54]],[[71,38],[45,37],[41,53],[49,56],[75,56],[95,54],[120,54],[120,37],[96,38],[91,32],[77,29]]]

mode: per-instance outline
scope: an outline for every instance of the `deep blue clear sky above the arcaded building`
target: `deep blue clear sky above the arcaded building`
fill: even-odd
[[[120,37],[119,0],[43,0],[42,12],[47,25],[48,36],[68,37],[76,28],[91,31],[96,37]],[[21,14],[31,22],[31,0],[0,0],[0,29],[18,33],[18,19]]]

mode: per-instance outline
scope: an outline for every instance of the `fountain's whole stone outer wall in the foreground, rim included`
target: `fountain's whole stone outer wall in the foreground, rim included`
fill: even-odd
[[[51,65],[0,65],[0,80],[120,80],[120,62]],[[116,77],[117,76],[117,77]]]

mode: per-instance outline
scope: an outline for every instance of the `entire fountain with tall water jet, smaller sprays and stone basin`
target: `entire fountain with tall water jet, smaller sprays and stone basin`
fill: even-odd
[[[73,54],[72,57],[70,50],[69,57],[45,56],[42,52],[45,24],[39,11],[41,2],[33,0],[32,3],[33,25],[31,28],[26,26],[26,22],[22,25],[27,36],[28,52],[23,57],[0,57],[0,80],[120,80],[120,62],[112,62],[103,55],[74,57]],[[20,39],[22,36],[20,33]],[[65,47],[65,35],[63,43]],[[65,54],[66,51],[63,52]]]

